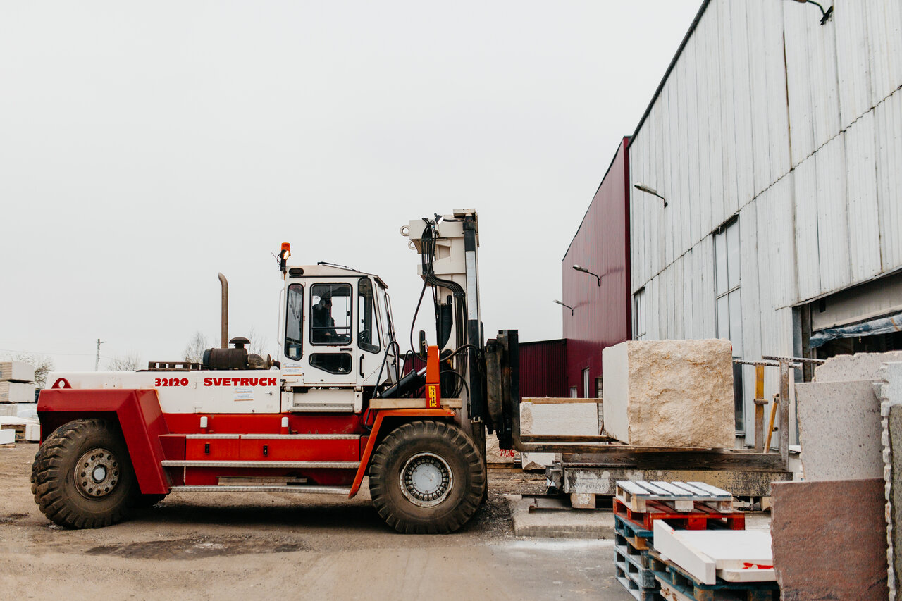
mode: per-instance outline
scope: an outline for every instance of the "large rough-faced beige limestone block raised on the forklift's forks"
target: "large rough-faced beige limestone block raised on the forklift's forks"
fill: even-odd
[[[602,351],[604,429],[643,447],[732,448],[729,340],[630,340]]]

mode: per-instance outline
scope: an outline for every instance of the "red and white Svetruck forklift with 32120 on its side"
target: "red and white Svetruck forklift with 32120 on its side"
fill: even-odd
[[[483,341],[474,210],[401,233],[419,254],[420,305],[431,291],[435,308],[436,343],[420,332],[410,352],[425,368],[404,373],[377,275],[292,266],[282,245],[275,360],[249,354],[246,338],[226,347],[224,335],[199,364],[50,374],[32,467],[41,512],[97,528],[173,491],[351,498],[369,476],[373,504],[398,532],[460,528],[486,495],[486,430],[502,448],[529,447],[519,439],[517,333]],[[412,347],[412,329],[410,338]]]

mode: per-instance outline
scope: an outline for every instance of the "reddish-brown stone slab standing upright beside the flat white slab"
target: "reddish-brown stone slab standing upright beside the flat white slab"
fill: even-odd
[[[888,598],[882,478],[777,482],[772,500],[783,599]]]

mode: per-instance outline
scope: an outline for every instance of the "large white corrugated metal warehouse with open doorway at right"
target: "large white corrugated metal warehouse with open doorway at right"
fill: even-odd
[[[902,2],[834,5],[823,25],[787,0],[701,6],[629,146],[631,182],[667,199],[630,190],[633,337],[899,346],[859,336],[902,311]]]

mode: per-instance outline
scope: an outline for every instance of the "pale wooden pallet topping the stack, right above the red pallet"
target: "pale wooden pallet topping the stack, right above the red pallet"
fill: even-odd
[[[648,501],[667,504],[677,512],[695,511],[696,504],[732,512],[732,495],[704,482],[618,480],[615,496],[634,512],[645,512]]]

